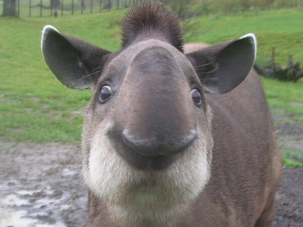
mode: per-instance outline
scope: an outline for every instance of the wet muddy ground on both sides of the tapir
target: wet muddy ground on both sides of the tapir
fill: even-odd
[[[282,149],[303,153],[303,126],[274,119]],[[76,145],[0,143],[0,226],[88,226],[80,162]],[[303,168],[284,167],[274,226],[303,226]]]

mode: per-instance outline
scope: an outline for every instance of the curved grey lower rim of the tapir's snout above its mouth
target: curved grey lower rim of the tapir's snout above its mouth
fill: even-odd
[[[153,136],[146,139],[139,138],[126,129],[122,132],[122,138],[125,144],[146,156],[156,156],[159,154],[175,155],[180,153],[195,140],[196,135],[196,130],[190,130],[188,135],[180,136],[179,139],[166,139],[168,138],[167,136],[160,140]]]

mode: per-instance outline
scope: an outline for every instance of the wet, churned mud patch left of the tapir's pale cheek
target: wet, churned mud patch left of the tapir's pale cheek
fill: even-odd
[[[0,144],[0,226],[88,226],[80,148]]]

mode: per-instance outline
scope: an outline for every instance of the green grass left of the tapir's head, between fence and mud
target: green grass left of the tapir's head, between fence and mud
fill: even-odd
[[[46,66],[40,37],[44,25],[52,24],[108,50],[120,46],[123,10],[59,18],[0,18],[0,139],[4,141],[76,143],[82,117],[72,115],[91,97],[89,90],[61,85]],[[115,20],[113,20],[115,19]],[[118,22],[117,22],[118,21]]]

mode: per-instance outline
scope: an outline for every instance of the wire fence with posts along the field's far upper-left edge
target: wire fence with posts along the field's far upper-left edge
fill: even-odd
[[[43,17],[100,13],[132,7],[144,0],[18,0],[19,17]],[[148,1],[153,2],[153,1]]]

